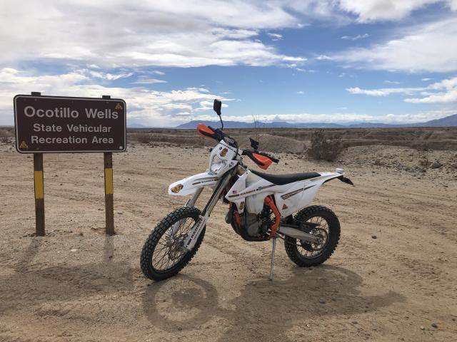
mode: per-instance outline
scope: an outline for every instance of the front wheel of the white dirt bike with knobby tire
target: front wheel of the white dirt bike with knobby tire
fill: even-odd
[[[156,225],[141,251],[141,270],[147,278],[155,281],[164,280],[174,276],[189,264],[203,241],[206,227],[201,231],[191,251],[184,249],[182,244],[200,214],[200,210],[194,207],[182,207],[166,215]],[[171,236],[174,224],[178,222],[179,227]]]

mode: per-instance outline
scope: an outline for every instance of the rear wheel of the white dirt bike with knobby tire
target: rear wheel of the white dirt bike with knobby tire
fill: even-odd
[[[336,249],[341,227],[336,214],[321,205],[301,209],[295,216],[297,221],[318,224],[311,234],[321,238],[318,243],[304,242],[293,237],[284,239],[289,259],[301,267],[317,266],[326,261]]]

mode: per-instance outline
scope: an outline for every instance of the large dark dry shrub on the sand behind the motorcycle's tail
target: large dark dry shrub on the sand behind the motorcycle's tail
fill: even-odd
[[[336,135],[326,136],[323,130],[316,130],[311,134],[311,146],[306,152],[313,159],[332,162],[342,150],[341,138]]]

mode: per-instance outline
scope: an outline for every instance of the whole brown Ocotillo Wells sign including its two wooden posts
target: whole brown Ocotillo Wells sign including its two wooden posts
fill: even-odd
[[[14,97],[16,150],[34,154],[36,236],[44,223],[43,153],[103,152],[106,234],[114,233],[113,153],[126,150],[126,103],[102,98]]]

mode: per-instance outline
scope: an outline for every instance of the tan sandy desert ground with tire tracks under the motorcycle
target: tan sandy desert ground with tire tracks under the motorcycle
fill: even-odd
[[[278,244],[271,283],[271,243],[244,242],[218,204],[191,264],[154,283],[141,248],[186,201],[166,189],[206,168],[204,148],[114,155],[114,237],[102,155],[45,155],[47,234],[34,237],[33,159],[1,145],[0,341],[456,341],[457,169],[412,170],[423,153],[456,161],[376,146],[339,163],[279,155],[272,173],[341,166],[356,184],[329,182],[314,202],[340,218],[333,257],[300,269]]]

